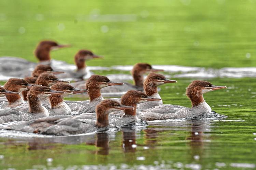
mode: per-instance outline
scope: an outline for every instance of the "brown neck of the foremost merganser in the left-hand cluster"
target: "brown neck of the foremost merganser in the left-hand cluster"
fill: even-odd
[[[37,95],[28,96],[29,103],[29,113],[42,113],[44,112],[44,107]]]

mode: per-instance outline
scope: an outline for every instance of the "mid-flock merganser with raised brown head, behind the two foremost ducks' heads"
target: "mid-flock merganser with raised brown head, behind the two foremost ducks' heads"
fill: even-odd
[[[124,83],[112,82],[109,78],[102,75],[92,75],[85,84],[85,89],[89,90],[88,95],[90,100],[87,101],[65,101],[71,108],[72,112],[94,113],[95,107],[103,99],[100,90],[104,87],[113,85],[123,85]]]

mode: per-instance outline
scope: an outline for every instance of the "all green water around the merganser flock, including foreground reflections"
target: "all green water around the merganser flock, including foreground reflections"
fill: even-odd
[[[35,62],[38,41],[54,39],[73,45],[51,53],[68,63],[79,49],[91,49],[105,57],[91,66],[253,67],[255,9],[253,0],[1,0],[0,56]],[[172,79],[178,83],[161,86],[163,103],[190,107],[185,88],[198,78]],[[227,118],[158,121],[109,134],[0,138],[0,169],[255,169],[256,78],[200,79],[228,87],[204,95]]]

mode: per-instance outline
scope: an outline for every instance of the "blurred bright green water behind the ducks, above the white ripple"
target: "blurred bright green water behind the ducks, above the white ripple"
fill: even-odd
[[[254,0],[0,1],[0,56],[37,61],[42,39],[72,44],[52,58],[73,63],[79,49],[105,60],[203,67],[256,65]]]

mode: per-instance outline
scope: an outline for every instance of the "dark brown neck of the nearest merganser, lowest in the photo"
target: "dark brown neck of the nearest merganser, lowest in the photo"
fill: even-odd
[[[99,128],[103,128],[109,125],[109,113],[105,108],[98,108],[96,111],[97,122],[96,125]]]

